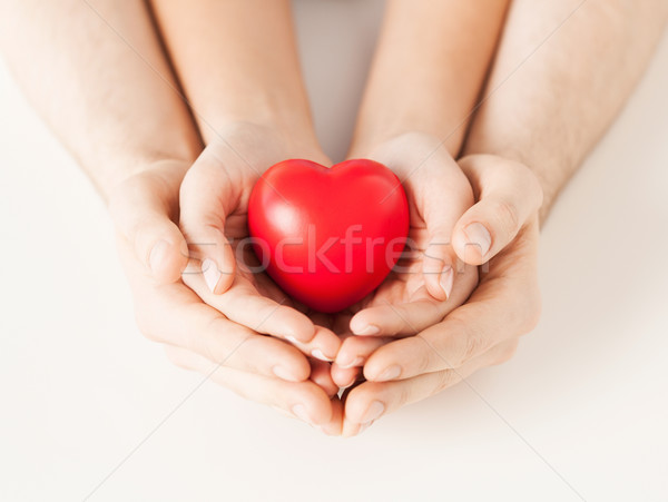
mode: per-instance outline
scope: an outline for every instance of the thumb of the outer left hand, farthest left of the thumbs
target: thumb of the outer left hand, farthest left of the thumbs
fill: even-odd
[[[171,220],[178,213],[178,190],[187,167],[180,161],[156,163],[120,183],[109,197],[116,227],[160,284],[178,280],[188,263],[186,240]]]

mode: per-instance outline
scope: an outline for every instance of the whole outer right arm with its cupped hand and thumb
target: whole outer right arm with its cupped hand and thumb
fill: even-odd
[[[441,323],[373,352],[364,366],[369,382],[347,395],[344,435],[507,361],[519,336],[538,322],[539,222],[619,112],[668,19],[662,1],[589,0],[517,70],[537,40],[578,4],[513,2],[485,90],[489,98],[460,160],[477,204],[452,236],[458,255],[471,264],[489,260],[489,273]],[[508,79],[515,70],[517,77]],[[489,250],[466,254],[465,228],[473,223],[489,233]],[[345,344],[340,357],[344,350]],[[394,368],[393,378],[383,376],[387,368]]]

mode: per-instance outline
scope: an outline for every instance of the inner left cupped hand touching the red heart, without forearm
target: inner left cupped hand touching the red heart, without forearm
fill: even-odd
[[[230,321],[332,361],[340,338],[299,312],[262,270],[247,229],[250,191],[267,168],[292,157],[328,160],[277,129],[235,124],[218,132],[180,187],[180,228],[193,264],[184,283]]]

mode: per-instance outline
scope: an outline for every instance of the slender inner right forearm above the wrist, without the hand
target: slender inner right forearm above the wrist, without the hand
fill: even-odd
[[[406,131],[459,152],[501,30],[507,0],[392,0],[353,152]]]

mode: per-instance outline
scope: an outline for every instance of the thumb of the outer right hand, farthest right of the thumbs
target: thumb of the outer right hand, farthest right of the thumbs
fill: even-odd
[[[452,245],[466,264],[482,265],[511,243],[542,204],[542,189],[524,165],[492,155],[460,160],[479,201],[456,223]]]

